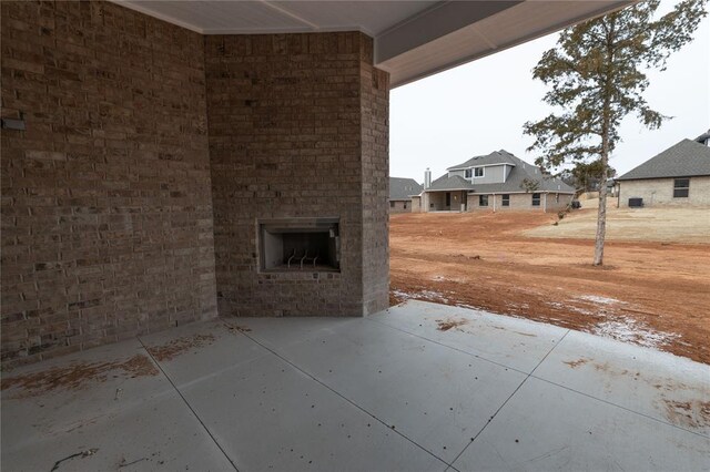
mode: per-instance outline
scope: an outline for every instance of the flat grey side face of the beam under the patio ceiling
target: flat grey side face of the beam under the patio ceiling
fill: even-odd
[[[375,63],[385,62],[523,1],[442,1],[378,34],[375,39]]]

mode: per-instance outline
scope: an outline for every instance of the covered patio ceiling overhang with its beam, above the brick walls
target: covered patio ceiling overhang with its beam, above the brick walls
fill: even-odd
[[[632,3],[632,0],[112,0],[202,34],[362,31],[392,88]]]

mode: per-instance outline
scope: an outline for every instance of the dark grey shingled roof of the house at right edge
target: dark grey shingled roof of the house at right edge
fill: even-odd
[[[673,144],[617,181],[710,175],[710,147],[690,140]]]

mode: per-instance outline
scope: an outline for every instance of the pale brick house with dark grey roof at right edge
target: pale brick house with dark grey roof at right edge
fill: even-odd
[[[618,177],[618,206],[710,206],[709,140],[682,140]]]

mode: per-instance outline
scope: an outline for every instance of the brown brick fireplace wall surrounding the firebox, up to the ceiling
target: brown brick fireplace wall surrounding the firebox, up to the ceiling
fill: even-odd
[[[372,40],[205,40],[220,315],[386,308],[388,84]],[[315,216],[341,218],[341,273],[260,273],[257,219]]]

